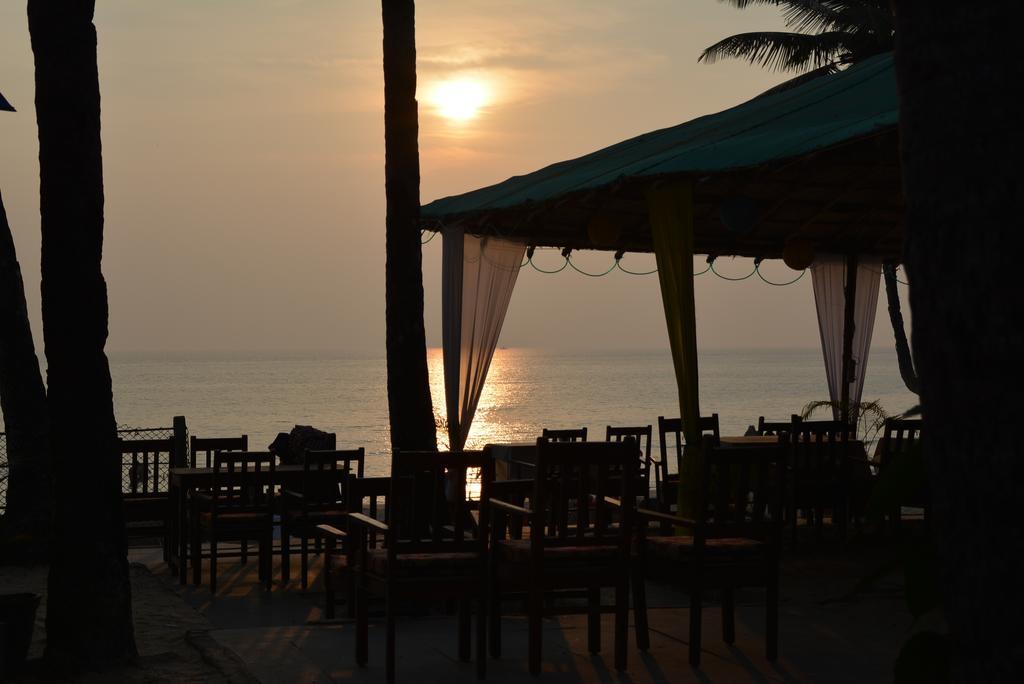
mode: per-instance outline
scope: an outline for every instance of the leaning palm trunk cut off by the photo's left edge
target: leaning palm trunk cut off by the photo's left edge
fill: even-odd
[[[25,283],[14,237],[0,197],[0,409],[7,433],[5,538],[44,548],[49,536],[49,430],[46,389],[25,303]],[[4,473],[0,472],[0,476]]]

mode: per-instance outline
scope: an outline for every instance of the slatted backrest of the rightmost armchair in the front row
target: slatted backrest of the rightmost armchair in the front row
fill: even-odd
[[[694,543],[743,538],[778,543],[786,445],[721,446],[706,435]]]

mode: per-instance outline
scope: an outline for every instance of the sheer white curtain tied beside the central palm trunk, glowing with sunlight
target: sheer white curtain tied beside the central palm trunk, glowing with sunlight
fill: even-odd
[[[525,245],[476,238],[456,228],[442,234],[441,320],[449,446],[466,444]]]

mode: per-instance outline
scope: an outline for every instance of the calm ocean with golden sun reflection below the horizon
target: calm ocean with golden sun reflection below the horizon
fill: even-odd
[[[443,417],[440,350],[430,349],[428,360],[434,413]],[[788,419],[828,395],[819,349],[705,351],[699,372],[701,414],[717,413],[722,434],[742,434],[758,416]],[[190,434],[248,434],[254,451],[296,424],[312,425],[337,433],[339,448],[364,446],[367,474],[388,472],[383,356],[113,353],[111,374],[119,425],[164,427],[185,416]],[[893,350],[872,349],[863,398],[890,414],[916,403]],[[545,427],[587,426],[603,439],[606,425],[650,424],[656,435],[658,416],[678,415],[668,351],[503,348],[467,446],[531,440]],[[446,435],[438,437],[443,446]]]

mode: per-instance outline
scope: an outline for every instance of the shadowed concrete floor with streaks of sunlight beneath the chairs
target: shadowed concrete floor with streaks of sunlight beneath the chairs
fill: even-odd
[[[858,580],[882,564],[892,549],[870,543],[835,545],[787,558],[782,567],[780,657],[764,658],[763,593],[737,597],[736,643],[721,639],[720,611],[707,606],[702,662],[686,661],[688,608],[685,594],[649,585],[651,648],[633,646],[631,624],[629,669],[611,665],[611,616],[605,616],[603,651],[587,650],[586,618],[572,615],[545,624],[544,675],[548,682],[877,682],[892,679],[892,662],[906,639],[912,619],[896,579],[869,592],[848,594]],[[384,681],[383,626],[372,618],[370,666],[354,665],[354,629],[346,619],[323,619],[318,558],[311,563],[310,589],[302,592],[298,563],[288,587],[265,593],[256,579],[255,558],[242,566],[221,561],[218,591],[208,586],[180,588],[156,550],[134,550],[168,589],[199,610],[209,636],[233,652],[256,679],[272,682]],[[280,567],[275,567],[280,578]],[[204,583],[207,578],[204,573]],[[344,608],[339,608],[344,614]],[[523,681],[526,671],[525,621],[506,617],[503,653],[488,660],[487,681]],[[475,681],[472,664],[456,657],[455,618],[443,614],[401,616],[397,628],[397,678],[407,682]]]

